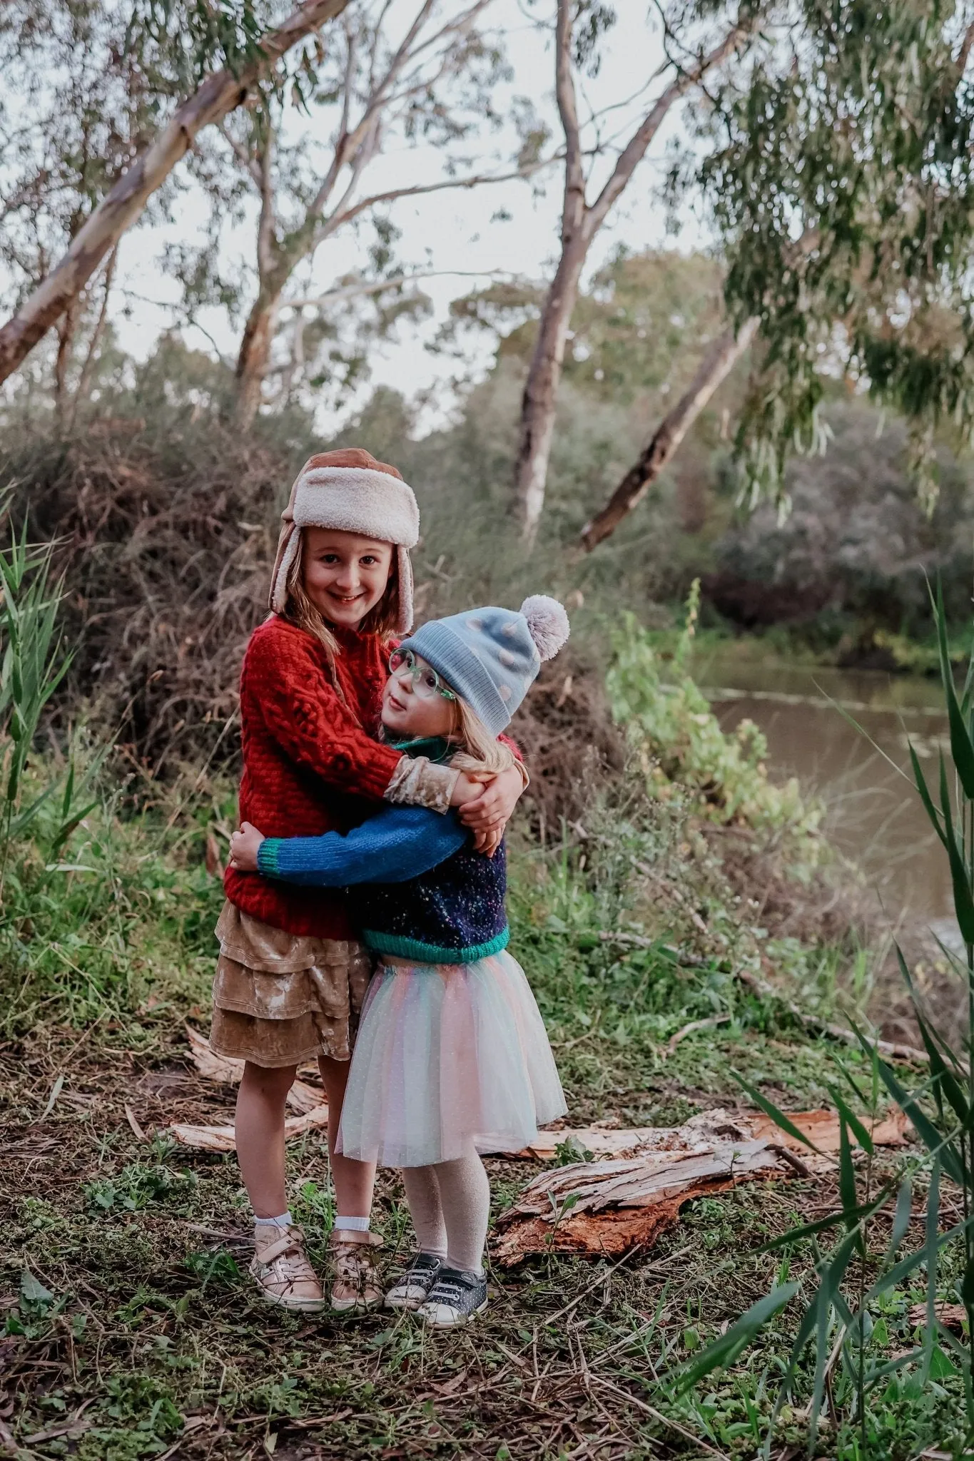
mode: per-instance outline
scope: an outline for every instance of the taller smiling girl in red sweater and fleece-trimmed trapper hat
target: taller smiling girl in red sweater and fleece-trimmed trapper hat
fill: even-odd
[[[298,473],[272,614],[251,636],[239,687],[239,812],[264,831],[348,831],[383,801],[445,812],[480,793],[456,770],[375,739],[388,636],[412,627],[409,548],[418,535],[410,488],[368,451],[321,453]],[[469,824],[486,834],[494,814],[510,815],[521,786],[517,771],[496,777],[480,796],[480,821],[476,801],[464,811]],[[232,866],[225,887],[212,1045],[245,1062],[237,1154],[254,1208],[251,1273],[270,1303],[324,1306],[285,1197],[285,1100],[298,1065],[317,1058],[333,1115],[331,1306],[381,1302],[368,1230],[374,1166],[334,1153],[371,958],[337,890],[286,887]]]

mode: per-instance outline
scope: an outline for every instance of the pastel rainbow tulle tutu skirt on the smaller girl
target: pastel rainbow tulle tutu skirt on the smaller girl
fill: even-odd
[[[545,1023],[508,953],[380,964],[368,986],[337,1147],[386,1167],[520,1151],[565,1115]]]

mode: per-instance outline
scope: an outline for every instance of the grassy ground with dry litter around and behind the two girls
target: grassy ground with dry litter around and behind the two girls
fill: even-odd
[[[0,1445],[80,1461],[756,1455],[793,1311],[688,1395],[660,1379],[775,1277],[810,1274],[809,1242],[786,1255],[761,1249],[831,1211],[828,1182],[699,1199],[651,1252],[622,1262],[549,1256],[492,1271],[489,1313],[466,1334],[431,1337],[407,1316],[301,1321],[254,1299],[235,1159],[153,1135],[180,1119],[228,1119],[232,1105],[231,1090],[196,1075],[183,1034],[185,1018],[206,1029],[209,1014],[222,890],[204,868],[204,834],[226,804],[210,796],[175,818],[118,811],[104,804],[77,828],[64,855],[73,871],[50,872],[31,849],[12,861]],[[672,805],[640,825],[616,812],[583,830],[555,849],[517,849],[511,893],[513,948],[549,1023],[571,1118],[670,1124],[739,1103],[736,1072],[784,1107],[828,1102],[834,1048],[809,1039],[786,998],[756,995],[739,974],[774,973],[787,999],[828,1012],[854,951],[755,928],[755,909],[735,901],[711,844],[686,837]],[[660,894],[678,874],[682,901]],[[714,1015],[729,1018],[670,1048]],[[136,1138],[129,1112],[150,1143]],[[533,1170],[508,1160],[489,1169],[495,1210]],[[331,1205],[320,1135],[289,1147],[289,1176],[323,1265]],[[945,1221],[952,1202],[945,1197]],[[409,1243],[394,1173],[381,1176],[377,1223],[391,1267]],[[911,1237],[921,1240],[920,1229],[917,1217]],[[875,1308],[881,1357],[911,1347],[910,1308],[926,1299],[923,1275],[914,1281]],[[870,1455],[959,1446],[962,1397],[949,1370],[923,1392],[910,1372],[891,1373],[870,1403]],[[844,1419],[838,1370],[832,1384],[816,1446],[851,1461],[859,1430]],[[803,1372],[777,1423],[778,1457],[806,1443],[808,1391]]]

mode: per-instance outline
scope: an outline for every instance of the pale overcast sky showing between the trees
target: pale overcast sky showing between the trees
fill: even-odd
[[[450,3],[451,0],[447,0],[447,4]],[[415,0],[394,0],[394,6],[399,7],[404,19],[413,13]],[[616,10],[619,19],[603,42],[599,76],[594,80],[588,77],[581,80],[580,110],[584,117],[591,110],[602,111],[612,107],[613,111],[603,121],[605,136],[615,137],[618,134],[625,140],[645,112],[647,101],[651,101],[664,83],[662,79],[653,79],[663,56],[654,15],[647,10],[644,0],[618,0]],[[529,96],[539,114],[553,129],[553,142],[558,145],[561,131],[553,101],[551,34],[548,31],[539,32],[532,23],[532,16],[549,19],[551,13],[553,13],[552,0],[536,0],[530,9],[526,6],[526,0],[495,0],[488,12],[492,23],[507,32],[514,80],[510,88],[505,88],[505,94],[508,96]],[[327,37],[327,31],[324,34]],[[312,114],[311,120],[301,124],[315,127],[317,117]],[[685,117],[675,112],[666,133],[657,137],[650,156],[637,171],[629,188],[596,241],[588,275],[621,243],[638,250],[666,241],[663,210],[654,200],[654,190],[662,178],[666,142],[673,134],[679,134],[685,126]],[[499,152],[507,150],[510,156],[514,134],[501,134],[495,145]],[[612,158],[613,153],[610,153],[610,161]],[[599,180],[605,178],[607,164],[596,162],[594,167],[590,199],[597,190]],[[505,169],[499,159],[495,168],[496,171]],[[368,191],[396,187],[403,180],[409,184],[434,181],[438,175],[440,159],[434,149],[422,145],[416,148],[393,146],[371,165]],[[386,383],[410,396],[444,381],[444,389],[434,392],[434,394],[442,399],[444,406],[448,406],[445,381],[454,367],[448,359],[437,358],[425,351],[423,340],[429,339],[445,318],[450,300],[478,286],[478,279],[470,278],[472,273],[483,270],[483,282],[491,270],[505,270],[534,279],[548,276],[556,257],[559,210],[561,177],[558,167],[548,171],[540,193],[532,183],[511,181],[476,190],[434,193],[428,197],[396,203],[391,218],[402,229],[402,240],[397,244],[399,256],[409,264],[419,267],[460,270],[461,273],[457,276],[444,275],[423,282],[423,291],[435,304],[435,318],[425,321],[419,329],[404,326],[400,343],[377,348],[371,358],[372,375],[368,389]],[[510,213],[510,221],[492,221],[498,212]],[[172,318],[165,305],[178,300],[175,281],[166,278],[158,263],[164,244],[166,241],[200,241],[204,218],[203,200],[190,191],[180,202],[177,222],[165,228],[139,229],[124,241],[120,251],[118,285],[129,291],[131,317],[118,318],[117,327],[123,346],[131,355],[142,358],[152,349],[159,332]],[[223,244],[228,257],[232,256],[234,250],[251,257],[254,231],[254,228],[234,229]],[[691,219],[679,235],[678,247],[686,248],[701,241],[699,228]],[[320,292],[343,275],[367,269],[368,262],[362,257],[362,241],[356,240],[350,231],[346,231],[345,235],[336,235],[318,250],[312,275],[305,276],[301,292],[307,292],[305,286],[311,286],[310,292]],[[188,330],[188,343],[212,352],[212,337],[219,351],[232,359],[238,345],[238,329],[231,327],[225,313],[219,310],[207,311],[202,320],[209,337],[200,330]],[[486,367],[488,361],[489,351],[485,342],[479,364]],[[426,413],[428,425],[434,424],[435,415],[435,411]]]

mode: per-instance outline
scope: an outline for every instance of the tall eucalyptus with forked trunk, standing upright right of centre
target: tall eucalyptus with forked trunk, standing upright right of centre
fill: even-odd
[[[565,171],[561,251],[540,308],[537,340],[521,400],[514,468],[513,513],[529,542],[534,538],[545,506],[565,345],[581,273],[596,235],[673,108],[689,94],[699,94],[704,85],[713,83],[724,64],[749,44],[758,19],[756,12],[743,3],[740,7],[708,4],[707,12],[666,18],[663,66],[656,77],[647,77],[650,99],[640,107],[638,123],[628,137],[613,145],[602,142],[597,117],[581,118],[575,76],[580,69],[597,67],[599,38],[615,23],[615,13],[600,0],[555,0],[555,95],[565,134]],[[606,155],[610,159],[607,177],[590,199],[593,168]]]

